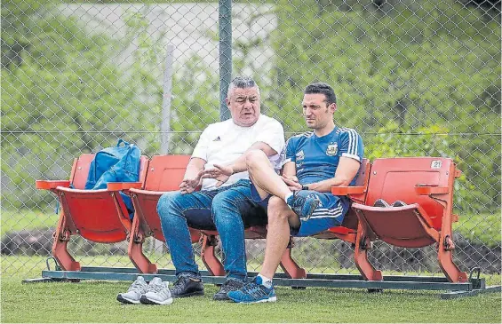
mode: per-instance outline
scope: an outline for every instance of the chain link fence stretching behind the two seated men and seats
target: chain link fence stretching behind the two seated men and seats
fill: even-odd
[[[68,178],[79,154],[136,143],[142,154],[190,154],[219,120],[219,5],[2,5],[2,271],[44,268],[58,215],[36,179]],[[336,123],[355,128],[371,160],[448,156],[456,183],[456,262],[500,273],[500,1],[292,0],[232,4],[233,75],[259,83],[262,112],[286,137],[307,130],[308,83],[330,83]],[[265,242],[248,240],[256,271]],[[195,247],[196,249],[197,247]],[[131,266],[126,243],[76,236],[83,265]],[[162,243],[147,257],[171,268]],[[307,272],[358,273],[346,242],[296,239]],[[33,261],[36,260],[36,261]],[[378,242],[386,273],[441,273],[434,247]]]

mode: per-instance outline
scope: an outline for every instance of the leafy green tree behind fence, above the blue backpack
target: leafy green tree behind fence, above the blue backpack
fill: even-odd
[[[2,46],[5,207],[43,203],[36,178],[66,178],[77,155],[151,128],[135,75],[113,62],[123,44],[86,33],[52,3],[5,2]]]

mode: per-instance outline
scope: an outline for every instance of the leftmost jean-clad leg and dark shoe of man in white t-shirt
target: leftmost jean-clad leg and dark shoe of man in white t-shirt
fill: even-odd
[[[198,214],[202,222],[211,223],[211,202],[214,193],[200,191],[192,194],[169,192],[162,195],[157,212],[160,216],[163,236],[171,251],[171,259],[179,280],[172,288],[173,296],[203,294],[198,266],[195,264],[192,240],[187,217]]]

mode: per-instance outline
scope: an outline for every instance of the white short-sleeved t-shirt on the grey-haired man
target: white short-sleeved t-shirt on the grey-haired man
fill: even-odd
[[[268,159],[275,170],[279,170],[284,148],[283,125],[266,115],[259,115],[258,121],[251,127],[238,126],[232,119],[211,123],[199,138],[192,157],[201,158],[206,162],[204,170],[212,168],[214,164],[227,165],[256,142],[266,143],[277,152]],[[222,186],[230,186],[243,178],[249,178],[248,171],[233,174]],[[216,183],[216,179],[204,178],[203,189],[215,189]]]

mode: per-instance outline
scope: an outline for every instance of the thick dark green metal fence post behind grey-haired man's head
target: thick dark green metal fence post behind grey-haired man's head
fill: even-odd
[[[219,120],[230,118],[225,99],[232,77],[232,0],[219,0]]]

